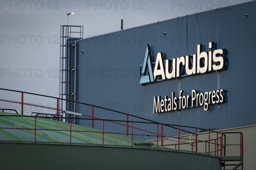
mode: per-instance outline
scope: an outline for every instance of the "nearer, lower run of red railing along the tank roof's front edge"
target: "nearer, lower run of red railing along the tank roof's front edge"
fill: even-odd
[[[36,143],[36,132],[37,130],[53,130],[53,131],[69,131],[70,132],[70,141],[69,143],[72,144],[72,132],[84,132],[84,133],[102,133],[102,145],[104,145],[104,135],[106,133],[109,134],[117,134],[117,135],[126,135],[126,133],[116,133],[116,132],[106,132],[105,131],[105,121],[110,121],[107,119],[94,119],[96,121],[102,121],[102,131],[88,131],[88,130],[72,130],[72,119],[85,119],[85,120],[92,120],[90,118],[71,118],[71,117],[66,117],[65,119],[69,119],[70,120],[70,128],[69,130],[65,130],[65,129],[43,129],[43,128],[38,128],[37,127],[37,118],[38,116],[25,116],[25,115],[0,115],[0,116],[22,116],[22,117],[34,117],[35,123],[34,123],[34,128],[20,128],[20,127],[0,127],[0,129],[15,129],[15,130],[33,130],[34,131],[34,142]],[[113,120],[115,122],[126,122],[126,121],[121,121],[121,120]],[[156,144],[158,147],[158,141],[159,141],[159,133],[158,133],[158,128],[159,128],[159,124],[157,124],[157,135],[148,135],[148,134],[135,134],[134,131],[134,123],[150,123],[150,124],[154,124],[152,122],[138,122],[138,121],[128,121],[131,122],[131,133],[129,133],[128,135],[131,135],[131,147],[133,147],[133,140],[134,140],[134,136],[151,136],[151,137],[155,137],[156,138]],[[166,124],[161,124],[162,125],[166,125]],[[171,126],[177,126],[177,125],[171,125]],[[188,126],[177,126],[178,127],[178,131],[180,131],[180,127],[188,127]],[[190,127],[190,128],[195,128],[195,127]],[[195,130],[197,130],[197,128],[195,128]],[[208,132],[209,133],[209,132]],[[227,146],[240,146],[240,156],[243,156],[243,134],[237,132],[238,134],[240,134],[240,143],[239,144],[226,144],[224,138],[225,138],[225,134],[224,133],[217,133],[217,132],[211,132],[211,133],[216,133],[217,134],[217,138],[213,138],[213,139],[207,139],[207,140],[198,140],[197,137],[195,137],[195,139],[189,139],[189,138],[184,138],[182,136],[163,136],[162,134],[161,136],[161,146],[173,146],[175,145],[175,149],[176,146],[178,145],[178,150],[180,150],[180,146],[187,144],[189,146],[195,147],[195,152],[198,152],[198,143],[205,143],[205,152],[204,153],[214,153],[216,156],[225,156],[225,147]],[[231,133],[231,132],[230,132]],[[235,134],[236,132],[232,133]],[[179,134],[179,132],[178,132]],[[198,133],[195,133],[195,136],[198,136]],[[220,137],[218,137],[218,134],[221,134]],[[228,133],[227,133],[228,134]],[[167,139],[177,139],[177,144],[163,144],[163,138],[167,138]],[[189,143],[189,142],[184,142],[186,140],[194,140],[194,142]],[[224,143],[223,143],[224,140]],[[212,142],[215,141],[215,142]],[[218,141],[220,141],[220,144],[218,143]],[[207,152],[207,144],[209,145],[214,145],[215,149],[214,150],[210,150],[210,147],[208,147],[208,152]],[[220,148],[219,148],[220,147]],[[193,151],[193,149],[192,149]],[[223,153],[224,152],[224,153]],[[203,153],[203,152],[198,152],[198,153]],[[219,154],[220,153],[220,154]]]

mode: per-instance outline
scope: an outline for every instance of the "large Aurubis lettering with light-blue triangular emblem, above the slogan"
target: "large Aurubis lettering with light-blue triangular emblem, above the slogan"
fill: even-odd
[[[213,49],[213,42],[209,42],[210,51],[202,51],[202,45],[197,45],[197,54],[163,59],[163,53],[157,53],[156,62],[152,62],[150,46],[147,44],[140,84],[157,82],[159,80],[175,79],[181,76],[204,74],[211,71],[225,69],[223,49]],[[185,68],[185,69],[184,69]],[[161,79],[160,79],[161,78]]]

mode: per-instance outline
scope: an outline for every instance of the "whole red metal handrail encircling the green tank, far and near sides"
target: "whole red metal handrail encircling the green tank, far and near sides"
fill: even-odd
[[[7,90],[7,91],[13,91],[13,90],[8,90],[8,89],[2,89],[0,88],[0,90]],[[51,107],[46,107],[46,106],[42,106],[42,105],[34,105],[34,104],[30,104],[30,103],[24,103],[23,101],[23,95],[24,93],[25,94],[32,94],[32,93],[27,93],[27,92],[22,92],[22,91],[15,91],[15,92],[20,92],[21,93],[21,102],[14,102],[14,101],[9,101],[9,100],[3,100],[3,99],[0,99],[0,101],[6,101],[6,102],[14,102],[14,103],[20,103],[21,104],[21,114],[23,114],[23,111],[24,111],[24,108],[23,108],[23,105],[32,105],[32,106],[36,106],[36,107],[41,107],[41,108],[49,108],[49,109],[52,109],[52,110],[56,110],[57,111],[57,120],[59,120],[59,113],[60,111],[62,111],[61,109],[59,109],[59,106],[58,106],[58,103],[59,103],[59,98],[56,98],[56,97],[52,97],[52,96],[46,96],[46,97],[50,97],[50,98],[55,98],[57,99],[57,107],[56,108],[51,108]],[[32,94],[32,95],[38,95],[38,94]],[[38,95],[38,96],[44,96],[45,95]],[[63,99],[65,100],[65,99]],[[67,102],[73,102],[73,101],[69,101],[69,100],[65,100]],[[81,102],[76,102],[76,103],[81,103]],[[85,103],[81,103],[81,104],[85,104]],[[85,104],[85,105],[89,105],[89,104]],[[220,156],[225,156],[225,148],[227,146],[237,146],[239,145],[240,146],[240,156],[243,156],[243,134],[240,133],[240,144],[226,144],[225,143],[225,139],[226,139],[226,136],[223,136],[221,135],[220,137],[218,137],[218,132],[215,132],[215,131],[212,131],[212,130],[207,130],[208,131],[208,140],[198,140],[198,132],[197,132],[197,128],[196,127],[189,127],[189,126],[182,126],[182,125],[169,125],[169,124],[161,124],[161,123],[158,123],[158,122],[154,122],[154,121],[151,121],[151,122],[140,122],[140,123],[153,123],[153,124],[156,124],[157,125],[157,132],[152,132],[150,130],[145,130],[145,129],[142,129],[142,128],[139,128],[139,127],[134,127],[134,122],[136,121],[129,121],[129,116],[134,116],[134,115],[129,115],[129,114],[126,114],[126,113],[122,113],[120,111],[115,111],[116,113],[122,113],[122,114],[126,114],[126,121],[119,121],[118,120],[107,120],[107,119],[102,119],[102,118],[97,118],[95,117],[94,115],[94,106],[93,105],[89,105],[89,106],[92,106],[92,116],[88,116],[88,117],[92,117],[91,121],[92,121],[92,127],[94,128],[94,121],[95,120],[99,120],[99,121],[102,121],[102,132],[95,132],[93,131],[94,133],[102,133],[102,145],[104,145],[104,134],[105,133],[112,133],[112,134],[122,134],[122,135],[126,135],[126,136],[129,136],[131,135],[131,147],[133,146],[133,140],[134,140],[134,136],[152,136],[152,137],[157,137],[157,147],[158,147],[158,142],[159,142],[159,124],[161,125],[161,146],[171,146],[171,145],[174,145],[175,146],[175,149],[176,149],[176,146],[178,145],[178,150],[180,150],[180,145],[183,145],[183,144],[189,144],[189,146],[192,146],[192,151],[193,151],[193,147],[195,146],[195,151],[198,152],[198,143],[201,143],[201,142],[204,142],[205,145],[203,145],[205,148],[205,153],[207,153],[207,143],[208,143],[208,153],[215,153],[215,155],[219,155],[219,152],[220,152]],[[99,107],[99,106],[95,106],[97,108],[102,108],[102,107]],[[102,108],[102,109],[106,109],[106,108]],[[2,109],[3,111],[4,109]],[[106,109],[106,110],[109,110],[109,111],[113,111],[111,109]],[[7,115],[1,115],[1,116],[7,116]],[[84,116],[84,115],[83,115]],[[136,118],[140,118],[138,116],[134,116]],[[69,118],[69,117],[68,117]],[[70,119],[70,144],[72,143],[72,132],[91,132],[91,131],[83,131],[83,130],[72,130],[72,119],[82,119],[82,118],[69,118]],[[143,120],[147,120],[147,121],[150,121],[148,119],[144,119],[144,118],[140,118],[140,119],[143,119]],[[115,124],[118,124],[118,125],[123,125],[123,126],[126,126],[126,132],[125,133],[113,133],[113,132],[105,132],[104,130],[104,122],[107,121],[107,122],[111,122],[111,123],[115,123]],[[125,122],[124,123],[120,123],[120,122]],[[129,125],[129,122],[131,122],[131,125]],[[138,123],[138,121],[137,121]],[[177,129],[177,133],[178,133],[178,136],[177,137],[171,137],[171,136],[166,136],[166,135],[163,135],[163,126],[166,126],[166,127],[171,127],[171,128],[175,128]],[[129,133],[129,127],[131,127],[131,134]],[[183,132],[188,132],[188,131],[185,131],[185,130],[182,130],[180,129],[180,127],[189,127],[189,128],[194,128],[195,129],[195,133],[192,133],[192,134],[195,134],[195,139],[186,139],[186,138],[182,138],[180,136],[180,131],[183,131]],[[34,130],[34,142],[36,142],[36,131],[37,130],[49,130],[49,129],[38,129],[36,128],[36,116],[35,116],[35,127],[34,129],[29,129],[29,128],[7,128],[7,127],[0,127],[0,128],[6,128],[6,129],[27,129],[27,130]],[[146,132],[146,133],[151,133],[151,134],[134,134],[134,128],[137,129],[137,130],[141,130],[143,132]],[[202,129],[202,128],[201,128]],[[52,129],[51,129],[52,130]],[[67,131],[67,130],[59,130],[59,131]],[[211,133],[216,133],[216,139],[210,139],[210,131]],[[152,135],[153,134],[153,135]],[[177,138],[177,143],[176,144],[163,144],[163,137],[166,137],[166,138]],[[181,141],[181,139],[183,141]],[[223,143],[223,139],[224,139],[224,143]],[[194,140],[195,142],[184,142],[186,140]],[[220,142],[219,142],[220,140]],[[211,142],[211,141],[215,141],[215,142]],[[195,145],[194,145],[195,143]],[[215,149],[214,150],[211,150],[210,148],[210,144],[214,144],[214,147]],[[223,150],[224,150],[224,154],[223,154]]]

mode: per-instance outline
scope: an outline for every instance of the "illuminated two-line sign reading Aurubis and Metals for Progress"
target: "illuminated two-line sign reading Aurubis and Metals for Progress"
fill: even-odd
[[[157,53],[156,62],[152,62],[150,46],[147,45],[145,59],[140,75],[140,84],[157,82],[161,80],[176,79],[183,76],[204,74],[211,71],[225,69],[224,50],[213,50],[213,42],[209,42],[209,51],[202,51],[202,45],[197,45],[197,54],[192,56],[181,56],[173,59],[163,59],[163,53]],[[184,70],[185,68],[185,70]],[[209,110],[209,106],[225,102],[225,90],[207,91],[198,93],[192,90],[192,95],[183,95],[180,91],[179,97],[172,92],[172,97],[154,96],[153,113],[164,113],[178,111],[186,108],[204,106],[204,110]]]

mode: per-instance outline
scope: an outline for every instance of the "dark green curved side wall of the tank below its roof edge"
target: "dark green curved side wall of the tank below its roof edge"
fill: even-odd
[[[163,150],[0,143],[0,169],[218,170],[218,158]]]

